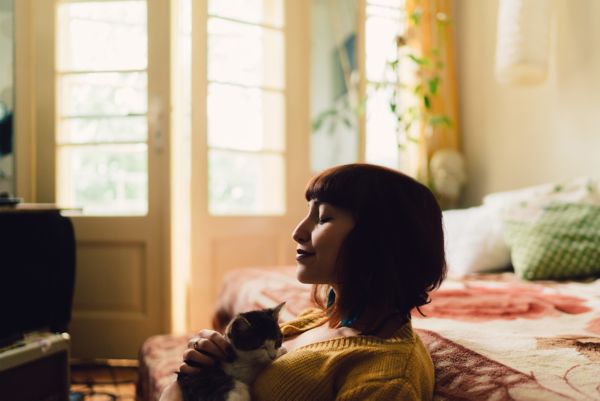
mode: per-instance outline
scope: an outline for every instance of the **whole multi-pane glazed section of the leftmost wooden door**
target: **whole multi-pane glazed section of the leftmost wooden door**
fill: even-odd
[[[146,2],[57,9],[57,200],[87,215],[148,211]]]

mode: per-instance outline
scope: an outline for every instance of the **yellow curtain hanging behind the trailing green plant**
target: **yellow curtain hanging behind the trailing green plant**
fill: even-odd
[[[430,182],[429,161],[440,149],[459,150],[459,121],[454,62],[454,34],[451,0],[407,0],[407,45],[420,57],[437,62],[440,81],[437,92],[430,98],[431,108],[425,110],[420,102],[422,116],[418,127],[418,142],[413,149],[412,173],[421,181]],[[427,74],[417,74],[422,85],[427,85]],[[429,124],[428,117],[444,116],[449,125]]]

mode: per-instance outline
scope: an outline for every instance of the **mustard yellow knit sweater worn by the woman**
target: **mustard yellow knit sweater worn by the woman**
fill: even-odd
[[[291,337],[325,323],[313,310],[282,325]],[[255,401],[430,401],[433,363],[409,323],[392,337],[340,337],[299,347],[262,371]]]

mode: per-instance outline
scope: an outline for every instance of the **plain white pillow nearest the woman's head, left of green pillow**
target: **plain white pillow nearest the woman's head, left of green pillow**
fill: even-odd
[[[445,210],[443,214],[449,276],[489,272],[510,265],[510,250],[495,210],[478,206]]]

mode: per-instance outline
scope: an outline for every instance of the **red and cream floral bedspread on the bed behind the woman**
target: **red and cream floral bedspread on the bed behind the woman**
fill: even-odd
[[[287,301],[283,318],[310,303],[292,268],[244,269],[223,286],[213,324]],[[436,400],[600,401],[600,279],[526,282],[511,273],[448,279],[413,313],[436,369]],[[174,379],[186,336],[156,336],[140,353],[138,399]]]

